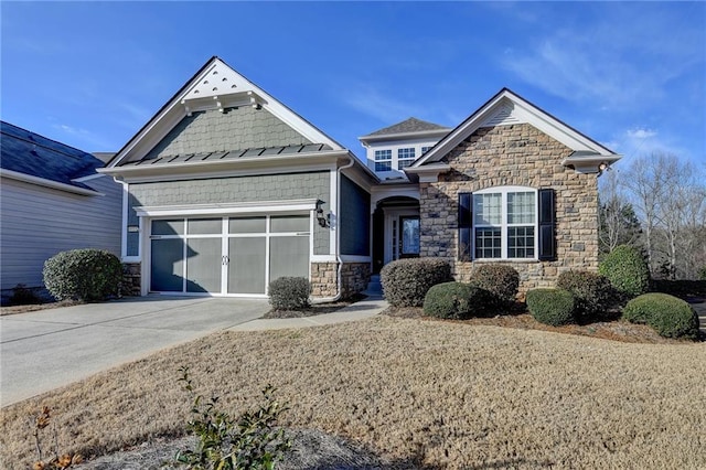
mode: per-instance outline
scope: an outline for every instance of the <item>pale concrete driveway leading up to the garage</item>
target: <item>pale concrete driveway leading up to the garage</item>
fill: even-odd
[[[141,297],[0,317],[0,405],[260,318],[267,300]]]

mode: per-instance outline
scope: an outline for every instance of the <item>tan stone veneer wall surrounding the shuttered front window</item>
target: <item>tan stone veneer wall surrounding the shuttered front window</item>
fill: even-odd
[[[451,171],[420,183],[421,256],[449,258],[457,280],[480,263],[458,260],[458,193],[504,185],[553,188],[555,261],[500,261],[520,273],[520,291],[552,287],[559,273],[598,268],[598,182],[561,165],[571,150],[528,124],[478,129],[447,156]]]

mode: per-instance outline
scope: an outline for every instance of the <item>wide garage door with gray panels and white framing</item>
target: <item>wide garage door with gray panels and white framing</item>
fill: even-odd
[[[264,296],[270,280],[309,278],[309,215],[152,220],[150,290]]]

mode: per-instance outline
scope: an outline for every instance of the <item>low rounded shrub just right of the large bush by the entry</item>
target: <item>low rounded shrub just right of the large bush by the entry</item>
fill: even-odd
[[[429,317],[466,320],[483,313],[491,296],[480,287],[463,282],[431,286],[424,299],[424,313]]]

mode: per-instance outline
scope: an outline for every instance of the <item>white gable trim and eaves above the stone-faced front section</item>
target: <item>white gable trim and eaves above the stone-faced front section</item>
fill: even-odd
[[[510,89],[503,88],[407,170],[440,161],[481,127],[523,122],[534,126],[575,152],[595,156],[608,164],[620,159],[620,156],[612,150],[567,126]]]

